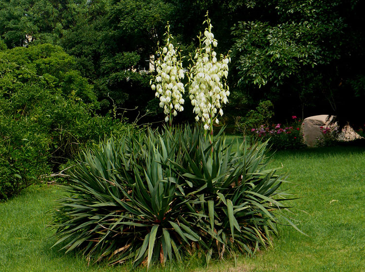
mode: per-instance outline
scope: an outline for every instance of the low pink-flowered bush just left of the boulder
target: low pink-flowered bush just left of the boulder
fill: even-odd
[[[297,119],[296,116],[292,116],[292,120],[290,125],[261,125],[258,128],[252,128],[251,133],[262,141],[270,139],[269,143],[274,149],[302,148],[305,144],[300,130],[301,120]]]

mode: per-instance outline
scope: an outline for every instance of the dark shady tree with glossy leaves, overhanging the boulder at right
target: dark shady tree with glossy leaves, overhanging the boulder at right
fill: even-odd
[[[250,2],[254,9],[266,4]],[[300,104],[304,116],[330,113],[357,122],[353,105],[364,102],[365,71],[357,65],[365,59],[364,4],[276,0],[268,9],[271,16],[232,29],[238,86],[272,100],[281,117]]]

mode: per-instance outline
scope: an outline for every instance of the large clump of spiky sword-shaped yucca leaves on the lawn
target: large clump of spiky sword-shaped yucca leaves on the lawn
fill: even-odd
[[[277,192],[285,180],[267,169],[267,143],[233,152],[224,136],[210,144],[202,135],[149,130],[85,150],[54,210],[55,245],[147,267],[195,251],[209,261],[272,245],[278,218],[286,219]]]

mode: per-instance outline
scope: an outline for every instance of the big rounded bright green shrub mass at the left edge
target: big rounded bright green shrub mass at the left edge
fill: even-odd
[[[57,170],[81,146],[127,125],[93,114],[93,86],[49,44],[0,51],[0,199]]]

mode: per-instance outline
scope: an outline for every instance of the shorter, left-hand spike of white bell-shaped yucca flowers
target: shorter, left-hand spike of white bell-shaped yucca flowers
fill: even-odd
[[[172,121],[172,116],[176,116],[178,111],[183,111],[183,93],[185,88],[181,80],[184,78],[184,70],[180,53],[170,42],[172,36],[169,34],[167,24],[167,42],[164,48],[159,48],[156,52],[160,55],[155,61],[157,76],[154,77],[152,90],[156,90],[156,97],[160,98],[160,107],[164,109],[165,121]],[[179,58],[178,58],[179,57]],[[151,84],[152,82],[150,82]]]

